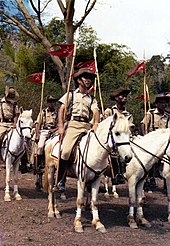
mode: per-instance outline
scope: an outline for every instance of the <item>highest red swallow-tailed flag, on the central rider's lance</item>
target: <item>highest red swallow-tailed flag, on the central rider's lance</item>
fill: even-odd
[[[50,48],[60,47],[58,50],[51,50],[48,54],[59,57],[72,57],[74,53],[74,44],[53,44]]]

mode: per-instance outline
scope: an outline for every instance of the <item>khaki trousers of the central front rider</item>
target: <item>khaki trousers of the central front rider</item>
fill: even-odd
[[[72,151],[72,148],[78,139],[79,135],[83,132],[87,133],[91,129],[90,123],[79,122],[71,120],[63,138],[61,146],[61,159],[68,160]]]

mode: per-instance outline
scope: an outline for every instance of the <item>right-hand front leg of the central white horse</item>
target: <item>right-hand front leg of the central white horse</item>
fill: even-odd
[[[100,222],[99,212],[98,212],[98,207],[97,207],[97,197],[98,197],[99,185],[100,185],[100,178],[98,178],[92,184],[92,194],[91,194],[91,210],[92,210],[92,215],[93,215],[92,226],[94,226],[97,231],[105,233],[106,228]]]

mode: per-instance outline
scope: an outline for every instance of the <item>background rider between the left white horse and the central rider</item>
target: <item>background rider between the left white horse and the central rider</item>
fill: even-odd
[[[45,166],[44,146],[45,141],[51,133],[57,130],[57,109],[58,99],[47,96],[47,108],[39,113],[35,122],[35,142],[37,143],[37,168],[43,169]]]

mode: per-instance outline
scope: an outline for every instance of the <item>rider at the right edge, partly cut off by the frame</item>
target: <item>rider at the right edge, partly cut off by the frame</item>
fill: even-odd
[[[156,95],[156,108],[150,109],[141,122],[141,131],[143,135],[159,128],[170,128],[170,114],[166,111],[168,102],[169,97],[165,94]],[[153,166],[149,176],[150,182],[147,181],[144,186],[146,191],[152,191],[156,188],[155,166]]]

